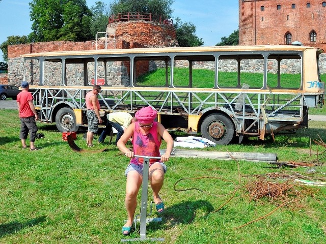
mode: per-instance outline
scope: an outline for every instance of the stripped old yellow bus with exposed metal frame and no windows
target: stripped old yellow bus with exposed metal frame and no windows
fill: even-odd
[[[217,144],[244,136],[293,132],[308,126],[309,108],[321,106],[314,47],[215,46],[106,49],[22,55],[24,79],[41,121],[58,130],[87,126],[85,95],[99,84],[102,115],[158,111],[169,130]],[[154,78],[153,78],[154,77]]]

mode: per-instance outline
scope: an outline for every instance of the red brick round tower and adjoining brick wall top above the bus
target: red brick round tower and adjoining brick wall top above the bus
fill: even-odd
[[[175,28],[147,21],[124,21],[112,23],[116,28],[116,48],[172,47],[177,46]],[[114,48],[109,46],[108,48]],[[8,58],[22,54],[50,51],[80,51],[96,49],[96,41],[88,42],[37,42],[8,46]],[[103,47],[98,47],[103,49]]]

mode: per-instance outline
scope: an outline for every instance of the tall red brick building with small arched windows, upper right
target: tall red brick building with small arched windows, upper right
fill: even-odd
[[[292,42],[326,50],[326,7],[322,2],[239,0],[239,45],[285,44],[285,36],[290,33]],[[312,31],[317,35],[316,42],[310,41]]]

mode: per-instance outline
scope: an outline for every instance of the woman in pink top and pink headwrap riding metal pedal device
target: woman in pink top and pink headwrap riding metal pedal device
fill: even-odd
[[[158,212],[164,210],[164,203],[158,193],[163,186],[164,173],[167,166],[164,162],[168,161],[173,149],[173,139],[169,132],[160,123],[154,121],[157,111],[151,107],[140,109],[135,117],[137,121],[132,123],[122,135],[117,143],[118,148],[130,158],[125,174],[127,176],[125,206],[128,214],[128,220],[122,227],[122,234],[130,233],[134,212],[137,207],[137,194],[143,180],[143,158],[134,158],[134,155],[160,157],[160,160],[150,159],[149,181],[153,190],[153,199]],[[133,151],[130,151],[125,144],[132,137]],[[159,154],[161,139],[167,142],[166,153]]]

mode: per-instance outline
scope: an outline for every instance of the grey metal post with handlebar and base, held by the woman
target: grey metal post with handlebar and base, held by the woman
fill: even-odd
[[[134,157],[143,158],[143,181],[142,181],[142,199],[141,199],[141,214],[140,214],[140,238],[121,239],[121,241],[138,241],[138,240],[149,240],[149,241],[164,241],[164,238],[146,238],[146,223],[150,221],[147,219],[147,199],[148,199],[148,173],[149,173],[149,160],[160,159],[160,157],[147,157],[135,155]],[[137,220],[134,221],[135,223]]]

